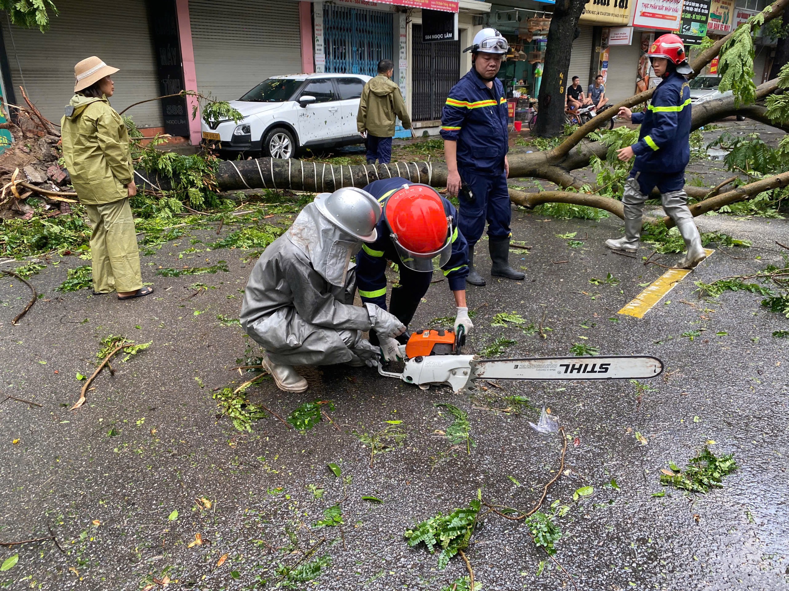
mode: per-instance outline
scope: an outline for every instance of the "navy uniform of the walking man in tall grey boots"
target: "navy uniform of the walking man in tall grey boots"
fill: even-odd
[[[685,76],[671,72],[657,85],[652,104],[633,113],[641,124],[632,148],[636,159],[630,177],[638,180],[641,193],[654,187],[660,193],[685,186],[685,167],[690,162],[690,86]]]

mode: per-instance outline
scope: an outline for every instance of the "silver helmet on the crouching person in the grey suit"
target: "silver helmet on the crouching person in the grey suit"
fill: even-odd
[[[367,191],[343,187],[334,193],[316,195],[315,206],[332,224],[362,242],[375,242],[381,206]]]

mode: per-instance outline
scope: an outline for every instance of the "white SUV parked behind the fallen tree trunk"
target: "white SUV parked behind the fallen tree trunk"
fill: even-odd
[[[361,74],[274,76],[230,101],[242,121],[201,121],[203,139],[222,151],[260,151],[272,158],[295,158],[302,147],[363,143],[356,116],[368,80]]]

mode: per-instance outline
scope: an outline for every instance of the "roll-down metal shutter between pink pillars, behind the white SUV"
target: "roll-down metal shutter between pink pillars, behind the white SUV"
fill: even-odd
[[[298,2],[189,0],[197,89],[239,99],[270,76],[301,72]]]

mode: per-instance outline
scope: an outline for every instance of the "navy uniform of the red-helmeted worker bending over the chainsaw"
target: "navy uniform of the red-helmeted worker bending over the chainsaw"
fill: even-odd
[[[370,195],[378,199],[383,207],[394,191],[403,185],[414,184],[402,177],[375,180],[365,187]],[[452,255],[446,265],[442,267],[443,274],[447,277],[449,288],[453,292],[466,289],[466,277],[469,274],[468,244],[463,233],[458,229],[457,212],[447,199],[441,198],[447,217],[452,218]],[[357,287],[361,301],[374,303],[376,306],[387,310],[387,261],[394,262],[400,269],[400,281],[392,289],[391,301],[388,310],[404,325],[408,325],[417,311],[417,307],[430,287],[433,274],[423,271],[414,271],[402,264],[398,252],[394,248],[390,234],[391,229],[381,217],[378,225],[378,240],[373,243],[362,244],[362,250],[357,255],[356,277]],[[370,334],[372,344],[377,344],[377,337]]]

